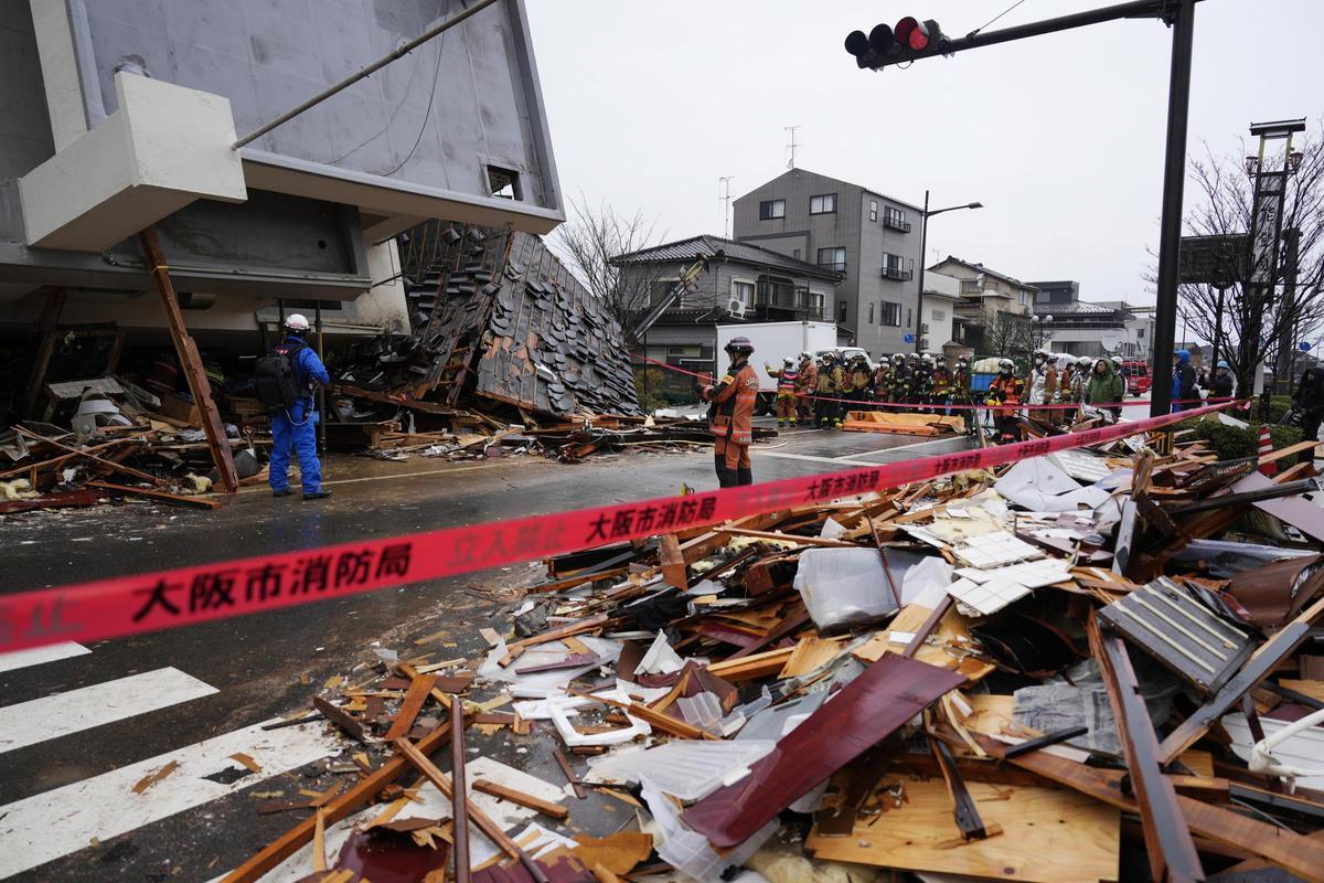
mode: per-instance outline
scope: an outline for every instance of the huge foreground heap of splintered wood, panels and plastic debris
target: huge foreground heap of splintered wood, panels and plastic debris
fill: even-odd
[[[551,559],[327,684],[351,784],[225,879],[1324,879],[1313,443],[1182,436]]]

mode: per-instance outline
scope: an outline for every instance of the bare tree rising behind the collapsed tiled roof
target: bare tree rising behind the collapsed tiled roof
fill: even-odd
[[[661,265],[632,265],[622,273],[614,261],[657,245],[665,233],[658,234],[657,221],[643,212],[624,214],[605,200],[593,208],[581,195],[571,207],[573,218],[557,228],[551,245],[580,282],[606,304],[626,339],[637,343],[634,328],[662,278]]]

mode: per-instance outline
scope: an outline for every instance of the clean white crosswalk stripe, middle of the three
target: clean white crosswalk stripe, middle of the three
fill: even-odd
[[[179,669],[143,674],[0,708],[0,753],[217,692]]]

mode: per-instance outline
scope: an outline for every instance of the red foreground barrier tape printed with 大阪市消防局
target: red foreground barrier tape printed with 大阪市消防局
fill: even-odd
[[[745,487],[258,555],[0,597],[0,651],[98,641],[436,580],[1098,445],[1226,405]]]

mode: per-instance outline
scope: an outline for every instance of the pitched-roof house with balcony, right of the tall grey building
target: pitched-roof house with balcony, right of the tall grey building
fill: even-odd
[[[1031,304],[1038,289],[982,263],[947,256],[924,273],[943,273],[960,283],[953,339],[978,355],[992,349],[1029,348]],[[1021,338],[1025,339],[1022,346]]]

